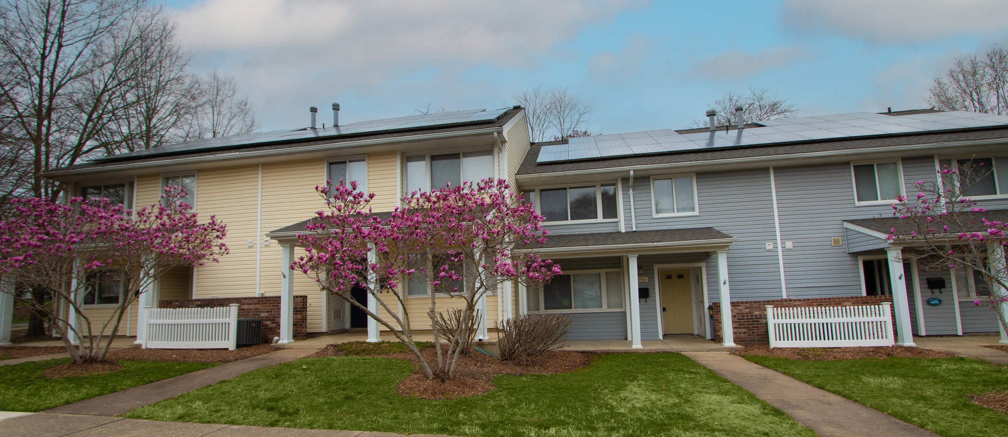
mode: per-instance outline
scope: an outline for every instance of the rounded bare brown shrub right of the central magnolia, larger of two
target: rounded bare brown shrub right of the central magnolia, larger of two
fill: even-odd
[[[571,317],[565,314],[525,314],[497,325],[497,346],[504,360],[529,359],[560,347],[571,333]]]

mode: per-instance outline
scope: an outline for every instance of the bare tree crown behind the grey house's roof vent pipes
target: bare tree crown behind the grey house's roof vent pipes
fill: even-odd
[[[749,88],[749,94],[735,93],[729,90],[714,104],[708,105],[710,109],[718,112],[715,117],[717,126],[731,126],[738,123],[735,119],[735,108],[745,109],[745,121],[760,122],[764,120],[789,119],[794,117],[799,110],[794,109],[796,104],[788,104],[787,99],[778,99],[776,96],[768,96],[770,91],[765,88]],[[709,126],[708,119],[695,119],[692,127],[702,128]]]

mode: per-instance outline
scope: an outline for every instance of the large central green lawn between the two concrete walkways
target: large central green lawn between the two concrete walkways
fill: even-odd
[[[580,372],[498,376],[472,398],[396,393],[410,365],[328,356],[242,375],[126,417],[480,436],[813,436],[678,353],[603,355]]]

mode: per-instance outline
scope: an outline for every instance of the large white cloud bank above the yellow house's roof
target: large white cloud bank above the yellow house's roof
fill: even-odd
[[[223,62],[258,104],[260,118],[282,120],[291,105],[306,107],[310,99],[328,106],[319,99],[329,96],[415,97],[423,93],[411,87],[431,86],[458,93],[458,80],[471,67],[534,66],[584,26],[640,4],[206,0],[176,17],[180,38],[200,53],[201,63]],[[405,106],[430,97],[420,99]],[[288,124],[264,121],[267,127]]]

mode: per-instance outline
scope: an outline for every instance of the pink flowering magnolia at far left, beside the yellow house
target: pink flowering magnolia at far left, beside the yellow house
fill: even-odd
[[[15,213],[0,222],[0,277],[15,286],[4,292],[48,291],[50,305],[17,293],[14,298],[53,321],[75,362],[104,360],[140,292],[173,267],[217,262],[228,253],[221,243],[226,226],[213,215],[201,223],[183,197],[180,188],[168,186],[161,203],[136,210],[105,198],[13,200]],[[111,313],[83,311],[86,302],[100,297],[116,301]],[[80,339],[79,347],[74,339]]]

